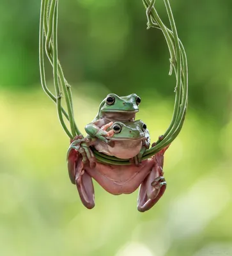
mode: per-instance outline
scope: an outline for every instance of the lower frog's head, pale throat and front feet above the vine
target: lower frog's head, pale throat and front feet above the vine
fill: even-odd
[[[120,127],[120,130],[117,130],[117,127]],[[134,158],[135,164],[139,164],[144,152],[150,147],[150,134],[141,120],[125,123],[110,122],[103,125],[100,131],[107,132],[108,143],[98,138],[87,136],[83,139],[74,140],[70,145],[68,154],[72,148],[75,148],[82,154],[85,163],[88,160],[89,163],[94,163],[93,152],[89,148],[89,146],[93,146],[98,152],[108,156],[115,156],[121,159]]]

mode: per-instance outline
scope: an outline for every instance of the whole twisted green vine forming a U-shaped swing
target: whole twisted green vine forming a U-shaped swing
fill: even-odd
[[[178,38],[176,25],[174,22],[173,13],[169,0],[163,0],[166,6],[167,15],[171,24],[171,29],[167,28],[155,9],[155,0],[142,0],[144,7],[146,8],[146,16],[148,19],[148,29],[157,28],[162,31],[166,38],[167,47],[170,53],[170,71],[169,75],[173,73],[176,76],[175,101],[173,118],[166,132],[159,137],[159,140],[155,143],[154,147],[146,150],[143,155],[143,160],[153,156],[162,148],[169,145],[178,136],[182,129],[183,122],[185,120],[185,113],[188,103],[188,68],[187,68],[187,56],[182,42]],[[82,135],[73,118],[73,106],[72,106],[72,92],[71,86],[67,83],[63,70],[58,60],[58,0],[42,0],[40,10],[40,77],[42,88],[44,92],[52,99],[57,106],[59,122],[63,127],[66,134],[72,140],[77,135]],[[44,51],[47,58],[53,68],[54,87],[56,95],[50,92],[47,87],[45,77],[44,66]],[[66,109],[61,106],[63,95],[65,97]],[[70,124],[68,129],[63,119]],[[118,159],[116,157],[107,156],[94,150],[97,161],[101,163],[127,165],[131,164],[129,159]]]

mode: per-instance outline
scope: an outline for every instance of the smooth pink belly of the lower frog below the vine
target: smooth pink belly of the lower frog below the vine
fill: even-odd
[[[85,170],[106,191],[113,195],[120,195],[134,192],[151,172],[153,164],[153,159],[145,160],[139,166],[97,163],[95,168],[87,167]]]

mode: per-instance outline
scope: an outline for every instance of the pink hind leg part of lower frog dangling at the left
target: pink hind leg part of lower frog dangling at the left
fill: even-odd
[[[95,207],[95,193],[93,188],[93,180],[91,176],[84,170],[84,164],[81,157],[77,161],[75,184],[79,192],[82,204],[88,208]]]

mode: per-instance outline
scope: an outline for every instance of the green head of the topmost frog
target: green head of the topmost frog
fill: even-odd
[[[135,93],[122,97],[110,93],[100,104],[99,117],[107,116],[116,120],[133,120],[135,113],[139,111],[140,102],[141,98]]]

